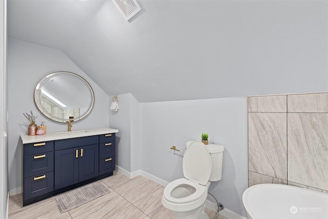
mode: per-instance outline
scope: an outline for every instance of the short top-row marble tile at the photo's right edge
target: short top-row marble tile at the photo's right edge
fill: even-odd
[[[288,112],[328,113],[328,93],[288,95]]]

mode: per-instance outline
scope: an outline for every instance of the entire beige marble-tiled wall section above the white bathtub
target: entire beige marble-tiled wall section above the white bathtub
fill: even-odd
[[[328,193],[328,93],[248,98],[249,186]]]

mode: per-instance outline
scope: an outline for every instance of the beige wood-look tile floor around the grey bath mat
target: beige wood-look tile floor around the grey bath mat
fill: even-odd
[[[110,188],[106,195],[65,213],[60,213],[53,197],[22,207],[22,195],[9,198],[9,219],[14,218],[173,218],[173,214],[161,205],[164,187],[143,176],[132,179],[114,172],[103,181]],[[206,209],[212,219],[228,219]]]

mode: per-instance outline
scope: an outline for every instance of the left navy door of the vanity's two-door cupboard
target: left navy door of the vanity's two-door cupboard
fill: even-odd
[[[78,183],[79,148],[55,151],[55,190]]]

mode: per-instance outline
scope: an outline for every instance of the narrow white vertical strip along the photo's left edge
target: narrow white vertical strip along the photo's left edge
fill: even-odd
[[[8,133],[6,4],[0,1],[0,218],[6,218],[8,207],[8,138],[3,134]]]

